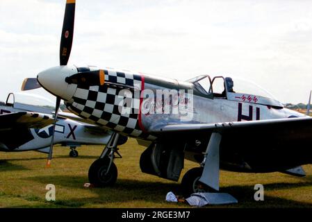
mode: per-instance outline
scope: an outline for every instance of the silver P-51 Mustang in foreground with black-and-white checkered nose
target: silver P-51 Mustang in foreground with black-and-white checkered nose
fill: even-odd
[[[37,80],[57,96],[56,107],[63,99],[84,121],[115,132],[90,167],[90,182],[98,186],[115,182],[111,154],[118,135],[135,137],[148,146],[140,157],[144,173],[179,180],[184,159],[198,162],[199,167],[182,179],[187,193],[208,187],[219,190],[220,168],[268,173],[311,164],[312,149],[306,145],[312,142],[312,118],[284,108],[271,96],[240,91],[235,79],[203,75],[180,81],[67,65],[74,9],[75,1],[67,0],[60,66],[40,72]]]

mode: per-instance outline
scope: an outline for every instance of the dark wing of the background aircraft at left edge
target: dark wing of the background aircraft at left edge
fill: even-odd
[[[53,118],[38,112],[12,112],[0,115],[0,130],[10,130],[21,127],[43,128],[53,122]]]

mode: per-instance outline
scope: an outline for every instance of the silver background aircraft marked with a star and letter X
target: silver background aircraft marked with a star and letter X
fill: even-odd
[[[35,100],[40,100],[40,105],[25,102]],[[49,153],[54,119],[48,105],[49,101],[42,97],[8,94],[6,103],[0,102],[0,151]],[[110,131],[99,130],[98,126],[64,117],[58,117],[55,132],[54,143],[69,146],[71,157],[78,156],[76,146],[107,144],[112,135]],[[120,138],[119,143],[124,142],[126,139]]]

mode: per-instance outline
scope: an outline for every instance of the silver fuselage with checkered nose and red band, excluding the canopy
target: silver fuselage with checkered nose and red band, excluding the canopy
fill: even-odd
[[[71,69],[76,68],[71,67]],[[97,70],[95,67],[84,69]],[[64,82],[65,87],[62,92],[52,93],[61,96],[69,110],[90,123],[130,137],[154,140],[156,137],[149,133],[150,129],[156,124],[163,123],[220,123],[305,116],[274,103],[263,105],[248,99],[229,100],[227,97],[220,98],[213,94],[204,94],[194,84],[185,81],[126,70],[101,70],[104,70],[105,82],[103,85],[76,85]],[[77,70],[72,71],[72,73],[76,72]],[[70,76],[69,71],[67,71],[68,73]],[[61,78],[64,80],[65,77]],[[88,76],[85,77],[88,78]],[[40,82],[40,78],[38,80]],[[51,83],[50,85],[55,84]],[[48,91],[52,90],[49,89],[48,83]],[[163,97],[158,96],[157,91],[162,93],[171,90],[176,90],[178,98],[166,101]],[[182,98],[188,104],[192,103],[192,107],[182,110],[183,112],[178,110],[173,113],[170,110],[175,105],[174,103],[178,106],[181,103],[179,92],[192,94],[187,99],[185,98],[187,96]],[[244,96],[248,97],[249,95],[244,94]],[[128,103],[127,100],[130,102]],[[169,112],[165,112],[165,106],[169,107]]]

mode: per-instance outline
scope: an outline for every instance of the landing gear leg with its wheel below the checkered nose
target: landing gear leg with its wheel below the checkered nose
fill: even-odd
[[[117,180],[117,167],[113,160],[116,158],[115,153],[122,157],[118,153],[118,139],[119,134],[113,133],[99,159],[95,160],[89,168],[89,181],[95,187],[107,187],[115,184]]]

